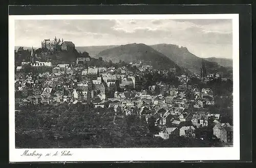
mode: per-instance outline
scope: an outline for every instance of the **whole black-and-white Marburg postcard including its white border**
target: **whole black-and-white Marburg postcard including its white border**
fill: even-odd
[[[89,160],[140,160],[138,151],[239,157],[238,14],[34,15],[9,24],[19,161],[46,149],[76,158],[87,150]]]

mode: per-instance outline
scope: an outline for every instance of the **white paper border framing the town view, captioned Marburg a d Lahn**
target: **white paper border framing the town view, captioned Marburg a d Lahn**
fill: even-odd
[[[20,156],[25,149],[15,149],[14,126],[14,20],[53,19],[232,19],[233,25],[233,147],[225,148],[84,148],[84,149],[28,149],[41,153],[67,150],[72,156]],[[9,161],[164,161],[164,160],[239,160],[239,14],[185,15],[10,15],[9,16]]]

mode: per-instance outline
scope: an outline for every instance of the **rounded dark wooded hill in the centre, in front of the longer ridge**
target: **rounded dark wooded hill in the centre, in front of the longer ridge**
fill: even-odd
[[[99,52],[96,57],[102,57],[103,60],[111,60],[113,63],[119,60],[130,63],[146,63],[152,65],[155,69],[174,68],[178,71],[182,70],[172,60],[168,59],[164,54],[154,50],[152,47],[145,44],[126,44],[118,47],[105,49]]]

